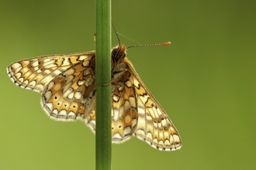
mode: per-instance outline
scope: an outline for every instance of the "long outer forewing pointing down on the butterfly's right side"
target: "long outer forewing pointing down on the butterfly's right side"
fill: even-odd
[[[137,127],[133,135],[159,150],[181,148],[182,139],[168,114],[147,90],[130,63],[127,63],[127,70],[131,74],[130,82],[133,83],[137,106]]]

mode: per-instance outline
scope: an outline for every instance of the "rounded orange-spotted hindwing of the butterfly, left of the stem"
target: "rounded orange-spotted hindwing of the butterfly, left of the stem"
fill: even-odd
[[[95,92],[95,56],[88,56],[47,84],[41,105],[57,121],[81,119],[95,129]]]

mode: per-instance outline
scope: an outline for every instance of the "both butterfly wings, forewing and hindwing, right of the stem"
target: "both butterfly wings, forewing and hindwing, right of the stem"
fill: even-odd
[[[134,135],[159,150],[181,148],[182,139],[168,114],[147,90],[130,61],[124,59],[123,64],[126,71],[112,85],[112,142],[121,143]]]

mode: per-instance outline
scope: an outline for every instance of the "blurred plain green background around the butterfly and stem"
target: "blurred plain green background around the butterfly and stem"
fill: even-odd
[[[182,135],[181,150],[132,138],[112,145],[112,169],[253,169],[255,1],[112,1],[118,32],[151,44],[128,58]],[[18,59],[95,49],[94,1],[0,1],[0,169],[95,169],[95,134],[50,120],[40,94],[5,71]],[[126,37],[126,46],[137,44]],[[116,36],[112,36],[116,46]]]

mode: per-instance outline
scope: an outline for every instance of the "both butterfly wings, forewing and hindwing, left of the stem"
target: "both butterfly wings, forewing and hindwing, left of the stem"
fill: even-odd
[[[23,59],[7,72],[19,87],[42,93],[41,105],[51,118],[85,119],[95,127],[95,51]]]

